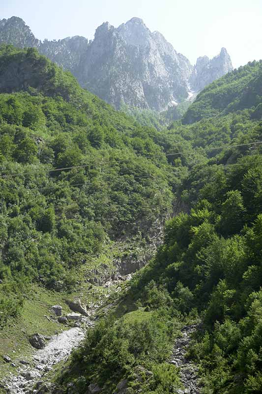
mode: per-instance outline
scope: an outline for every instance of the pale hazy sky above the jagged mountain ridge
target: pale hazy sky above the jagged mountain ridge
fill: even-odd
[[[135,16],[192,64],[222,47],[234,67],[262,59],[262,0],[0,0],[0,19],[13,15],[41,40],[92,39],[103,22],[117,27]]]

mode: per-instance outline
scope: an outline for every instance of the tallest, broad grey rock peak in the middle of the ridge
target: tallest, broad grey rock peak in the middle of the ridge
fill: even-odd
[[[186,99],[189,61],[139,18],[117,29],[100,26],[78,70],[80,83],[120,108],[121,103],[155,110]]]

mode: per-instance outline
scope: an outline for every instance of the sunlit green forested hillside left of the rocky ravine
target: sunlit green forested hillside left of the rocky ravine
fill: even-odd
[[[36,50],[2,46],[0,70],[3,325],[19,313],[29,281],[67,289],[87,255],[153,232],[172,210],[175,176],[156,130],[84,91]]]

